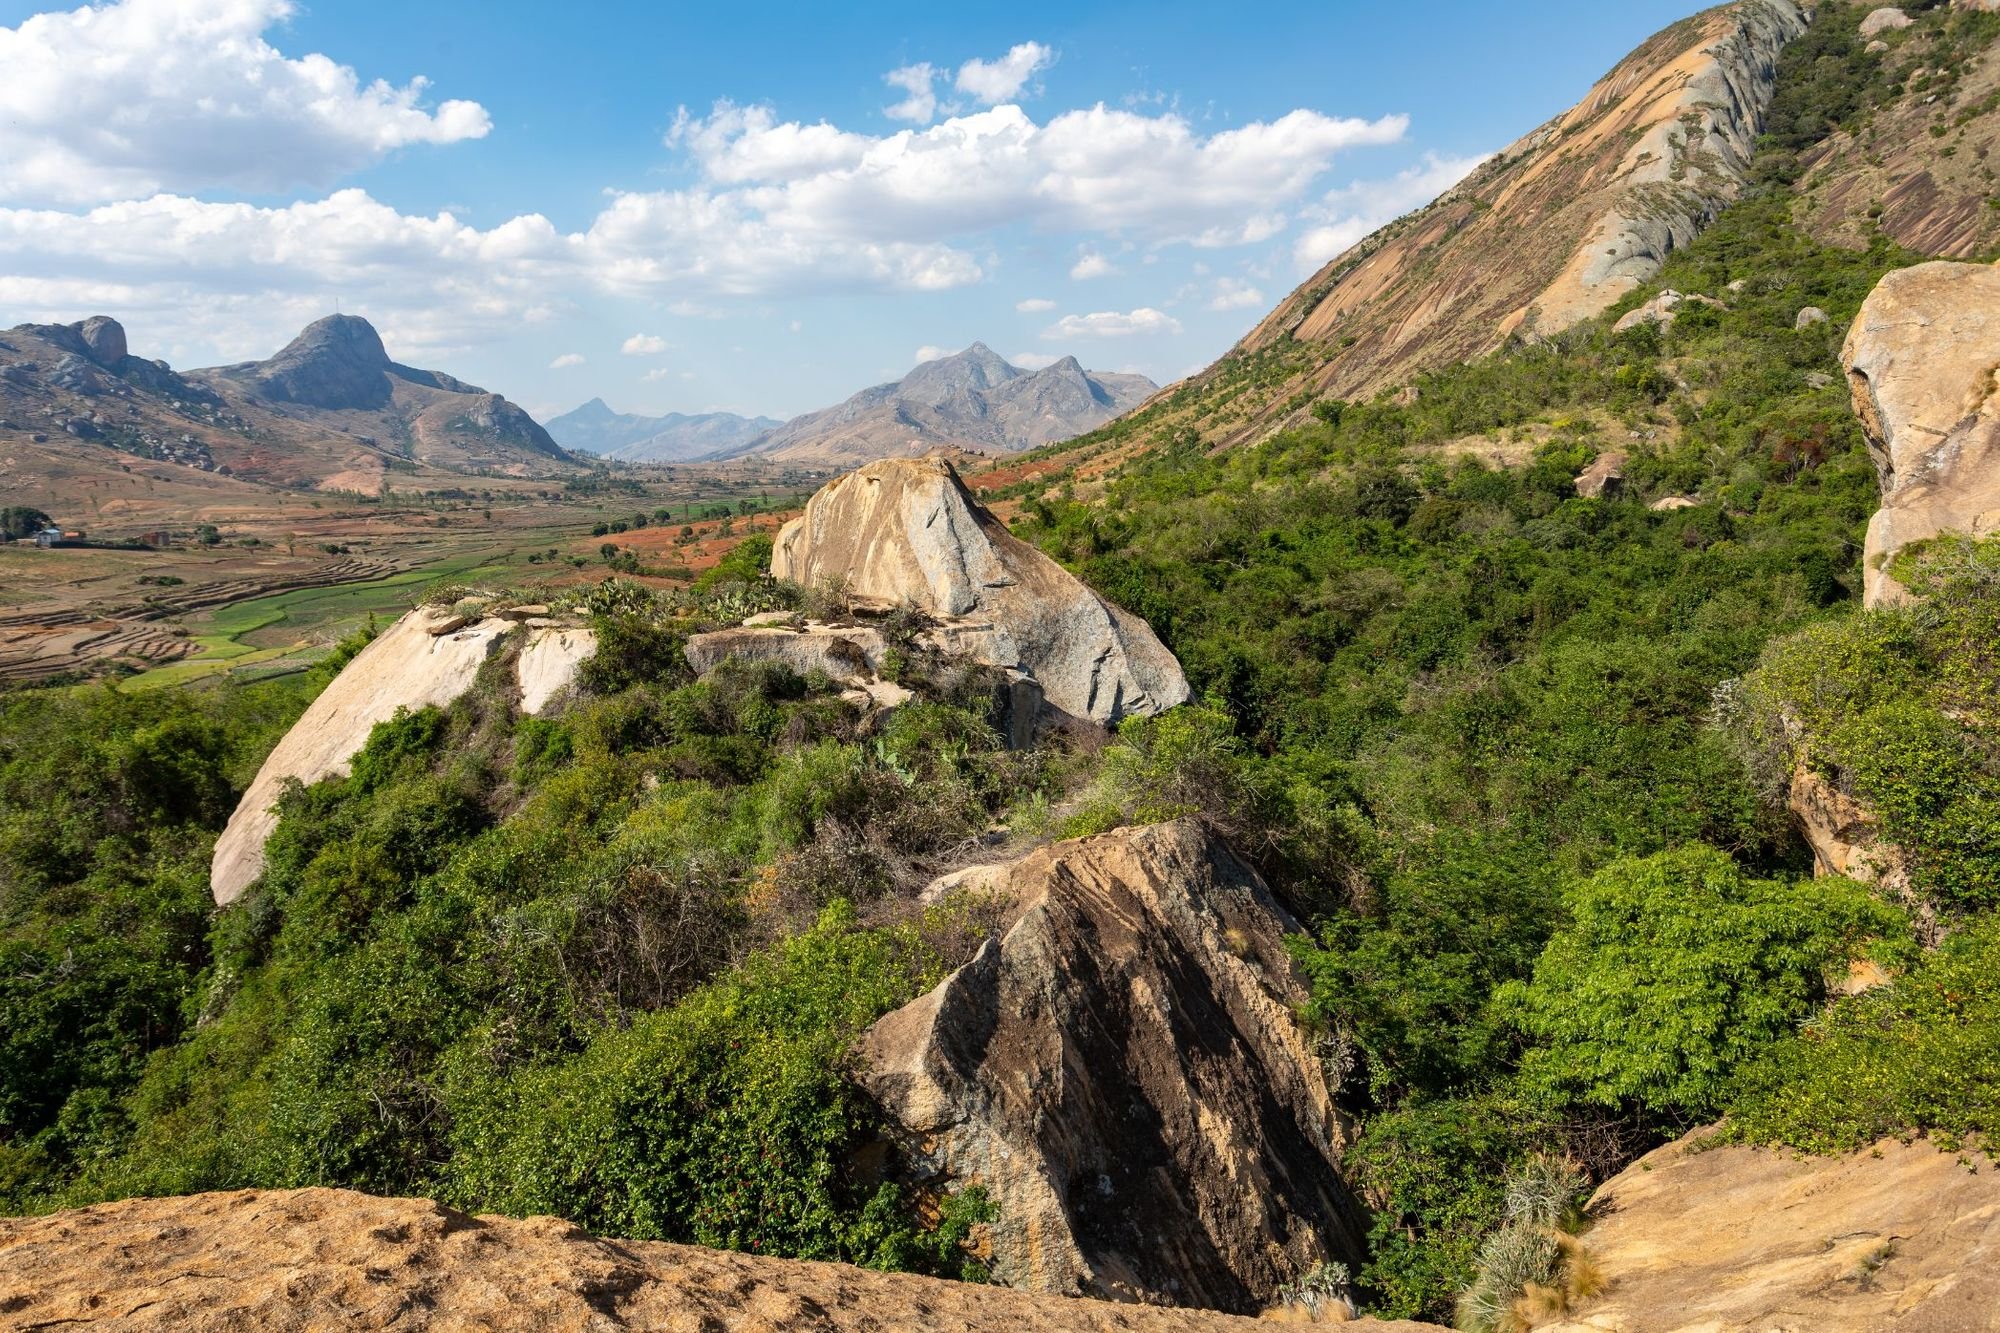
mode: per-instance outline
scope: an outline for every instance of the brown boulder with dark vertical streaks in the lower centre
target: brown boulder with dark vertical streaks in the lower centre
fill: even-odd
[[[988,1191],[998,1281],[1254,1311],[1320,1261],[1358,1267],[1298,925],[1254,871],[1176,821],[972,891],[1018,919],[866,1033],[860,1079],[916,1183]]]

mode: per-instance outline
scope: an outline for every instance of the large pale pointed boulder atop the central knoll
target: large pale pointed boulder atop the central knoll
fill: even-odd
[[[912,604],[946,622],[952,650],[1034,677],[1076,719],[1118,723],[1188,701],[1180,662],[1144,620],[1008,532],[942,458],[884,458],[828,482],[778,532],[770,572]]]

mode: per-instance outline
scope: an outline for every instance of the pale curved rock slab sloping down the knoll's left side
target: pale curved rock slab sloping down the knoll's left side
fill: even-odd
[[[216,903],[234,903],[264,873],[264,843],[278,827],[274,807],[286,779],[310,787],[348,773],[376,723],[392,719],[396,709],[442,709],[464,695],[514,626],[500,616],[468,622],[450,608],[418,606],[356,652],[284,733],[236,803],[208,863]],[[516,662],[522,711],[544,709],[592,652],[596,636],[588,628],[532,628]]]

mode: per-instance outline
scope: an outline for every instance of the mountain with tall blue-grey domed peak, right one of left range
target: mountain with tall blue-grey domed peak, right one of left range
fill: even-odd
[[[534,474],[568,452],[520,406],[440,370],[390,360],[356,314],[314,320],[268,360],[190,372],[216,392],[452,472]]]

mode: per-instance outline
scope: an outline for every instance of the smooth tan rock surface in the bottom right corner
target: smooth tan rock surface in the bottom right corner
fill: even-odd
[[[2000,1329],[2000,1169],[1884,1139],[1846,1157],[1648,1153],[1590,1201],[1608,1295],[1564,1333]]]

